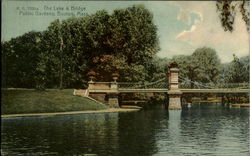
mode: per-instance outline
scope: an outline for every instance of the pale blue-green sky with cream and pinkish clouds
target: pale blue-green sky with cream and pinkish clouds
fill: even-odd
[[[154,16],[158,28],[160,57],[191,55],[195,49],[211,47],[222,63],[233,54],[248,55],[249,39],[244,21],[238,13],[235,30],[225,32],[214,1],[2,1],[1,41],[8,41],[29,31],[45,30],[55,19],[67,19],[107,10],[143,4]],[[62,10],[63,9],[63,10]]]

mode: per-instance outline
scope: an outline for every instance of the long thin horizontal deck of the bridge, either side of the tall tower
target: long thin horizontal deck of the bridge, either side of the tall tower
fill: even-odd
[[[169,89],[89,90],[90,93],[167,93]],[[250,93],[250,89],[180,89],[182,93]]]

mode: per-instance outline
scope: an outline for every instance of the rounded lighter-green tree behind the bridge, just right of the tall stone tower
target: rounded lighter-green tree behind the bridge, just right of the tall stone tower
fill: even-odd
[[[189,79],[188,84],[194,87],[194,82],[215,83],[221,63],[216,51],[212,48],[198,48],[190,56],[179,55],[172,58],[179,65],[180,79]]]

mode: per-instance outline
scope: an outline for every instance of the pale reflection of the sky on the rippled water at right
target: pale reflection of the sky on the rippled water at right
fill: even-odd
[[[249,109],[170,111],[155,155],[250,155]]]

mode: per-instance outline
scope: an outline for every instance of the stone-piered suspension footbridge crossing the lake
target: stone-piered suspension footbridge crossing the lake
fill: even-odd
[[[118,95],[121,93],[166,93],[168,96],[168,109],[181,109],[181,97],[184,94],[197,93],[224,93],[224,94],[250,94],[249,83],[199,83],[179,76],[176,63],[170,64],[167,76],[154,82],[127,83],[89,81],[86,95],[108,103],[111,107],[119,107]]]

